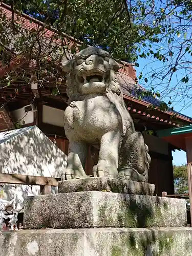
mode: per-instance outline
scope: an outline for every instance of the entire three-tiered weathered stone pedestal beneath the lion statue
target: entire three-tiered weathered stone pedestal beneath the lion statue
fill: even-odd
[[[108,178],[61,181],[59,192],[67,193],[25,201],[25,230],[0,232],[0,255],[191,256],[185,200],[127,194],[153,188]]]

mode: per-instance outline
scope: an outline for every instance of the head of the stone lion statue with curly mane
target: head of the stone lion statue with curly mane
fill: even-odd
[[[108,52],[96,47],[81,50],[74,59],[63,63],[63,71],[67,73],[66,92],[69,100],[110,91],[121,96],[118,69],[118,63],[110,58]]]

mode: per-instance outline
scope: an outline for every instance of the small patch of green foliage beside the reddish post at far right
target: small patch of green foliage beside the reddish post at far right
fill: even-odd
[[[186,194],[188,193],[188,176],[187,176],[187,166],[174,165],[174,185],[176,194]]]

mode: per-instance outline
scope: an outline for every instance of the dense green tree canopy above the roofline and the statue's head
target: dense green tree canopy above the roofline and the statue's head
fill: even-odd
[[[12,7],[53,26],[58,34],[71,35],[83,45],[100,46],[121,60],[135,61],[136,44],[145,40],[139,33],[143,28],[133,23],[124,0],[26,0],[16,1]]]

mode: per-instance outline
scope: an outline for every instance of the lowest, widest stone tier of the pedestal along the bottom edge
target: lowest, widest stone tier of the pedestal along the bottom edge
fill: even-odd
[[[0,232],[1,256],[191,256],[191,228]]]

